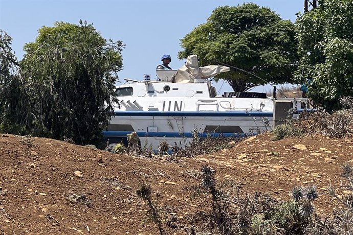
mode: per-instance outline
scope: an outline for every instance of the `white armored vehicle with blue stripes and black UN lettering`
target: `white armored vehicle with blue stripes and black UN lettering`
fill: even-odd
[[[158,80],[144,75],[143,81],[125,79],[117,86],[119,103],[115,116],[103,135],[114,145],[137,132],[141,145],[147,142],[156,150],[162,140],[187,145],[194,131],[200,137],[253,135],[271,130],[275,99],[266,93],[225,92],[217,96],[206,79],[228,72],[229,67],[198,67],[197,57],[189,56],[178,70],[156,70]],[[289,108],[300,108],[304,100],[286,100],[279,115]],[[282,113],[282,114],[280,114]],[[275,114],[276,115],[276,114]],[[277,118],[278,120],[278,118]]]

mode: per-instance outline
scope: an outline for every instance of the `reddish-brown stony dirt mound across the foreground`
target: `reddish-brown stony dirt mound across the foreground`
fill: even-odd
[[[217,181],[233,179],[249,192],[289,199],[296,185],[339,185],[340,164],[352,158],[350,139],[323,136],[270,140],[266,133],[218,153],[179,161],[112,154],[58,140],[0,135],[0,234],[157,234],[145,221],[146,205],[136,195],[145,181],[161,195],[172,216],[166,231],[187,234],[193,215],[209,203],[192,198],[202,165]],[[316,202],[318,213],[335,203]]]

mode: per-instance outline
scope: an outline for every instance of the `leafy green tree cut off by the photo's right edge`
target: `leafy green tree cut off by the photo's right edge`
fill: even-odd
[[[295,78],[326,109],[353,96],[353,2],[325,0],[296,21],[299,66]]]

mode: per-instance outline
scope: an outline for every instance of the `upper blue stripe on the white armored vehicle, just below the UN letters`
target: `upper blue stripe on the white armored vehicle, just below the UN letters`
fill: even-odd
[[[115,116],[273,116],[273,112],[262,111],[115,111]]]

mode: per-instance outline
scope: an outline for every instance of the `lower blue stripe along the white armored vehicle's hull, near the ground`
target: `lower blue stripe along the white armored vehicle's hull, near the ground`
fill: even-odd
[[[103,131],[103,136],[104,137],[126,137],[127,134],[130,134],[131,131]],[[191,138],[193,137],[193,133],[191,132],[184,132],[184,133],[178,133],[178,132],[144,132],[144,131],[137,131],[136,132],[138,136],[140,137],[187,137]],[[224,137],[239,137],[239,136],[244,136],[244,133],[215,133],[215,132],[210,132],[210,133],[198,133],[198,136],[201,138],[205,138],[208,135],[211,137],[218,137],[219,135],[224,136]]]

